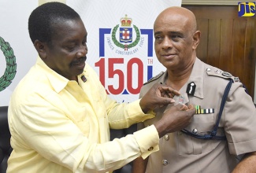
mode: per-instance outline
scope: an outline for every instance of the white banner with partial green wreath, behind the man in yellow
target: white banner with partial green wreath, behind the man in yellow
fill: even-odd
[[[35,64],[28,17],[37,6],[35,0],[0,0],[0,106],[9,105],[17,83]]]

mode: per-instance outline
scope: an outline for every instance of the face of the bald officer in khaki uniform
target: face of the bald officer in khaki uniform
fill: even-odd
[[[154,48],[161,62],[170,70],[184,70],[194,62],[193,25],[189,17],[172,11],[162,13],[154,23]]]

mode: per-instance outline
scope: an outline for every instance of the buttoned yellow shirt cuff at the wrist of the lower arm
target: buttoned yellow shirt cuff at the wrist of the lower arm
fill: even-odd
[[[159,150],[159,135],[154,125],[136,131],[134,135],[143,159]]]

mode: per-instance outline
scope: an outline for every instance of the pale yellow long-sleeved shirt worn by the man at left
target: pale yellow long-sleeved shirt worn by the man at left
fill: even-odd
[[[85,75],[87,81],[80,79]],[[106,172],[158,150],[154,125],[109,142],[109,127],[124,128],[154,117],[139,101],[118,104],[86,64],[78,83],[38,58],[9,102],[13,153],[7,172]]]

